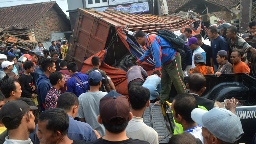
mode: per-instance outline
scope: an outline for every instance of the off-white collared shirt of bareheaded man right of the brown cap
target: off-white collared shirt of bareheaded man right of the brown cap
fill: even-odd
[[[143,122],[143,118],[132,116],[126,127],[126,136],[132,139],[148,141],[150,144],[158,143],[158,133]]]

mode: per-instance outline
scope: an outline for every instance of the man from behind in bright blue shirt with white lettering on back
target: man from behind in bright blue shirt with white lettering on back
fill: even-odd
[[[70,62],[67,67],[72,78],[70,78],[67,82],[66,92],[72,92],[77,97],[79,97],[80,94],[90,90],[90,85],[88,84],[88,76],[78,72],[76,63]]]

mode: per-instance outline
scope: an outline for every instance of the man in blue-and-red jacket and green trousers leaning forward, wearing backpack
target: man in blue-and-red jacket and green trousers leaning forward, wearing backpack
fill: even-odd
[[[136,64],[139,65],[152,56],[155,59],[157,74],[162,75],[160,100],[156,101],[155,105],[162,105],[165,100],[168,100],[172,83],[178,94],[187,93],[181,69],[180,53],[173,48],[161,49],[161,47],[171,47],[172,45],[155,34],[145,35],[143,31],[139,30],[135,33],[135,38],[138,44],[147,47],[147,51],[136,61]]]

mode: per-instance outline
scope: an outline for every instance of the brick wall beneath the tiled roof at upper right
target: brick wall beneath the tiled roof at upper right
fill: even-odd
[[[207,21],[210,21],[211,16],[215,16],[216,18],[223,18],[226,20],[226,22],[230,23],[230,20],[236,19],[236,14],[233,13],[233,16],[231,15],[232,12],[230,11],[220,11],[220,12],[211,12],[207,14]]]

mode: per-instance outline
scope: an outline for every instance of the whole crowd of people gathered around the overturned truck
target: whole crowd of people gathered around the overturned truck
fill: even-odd
[[[13,45],[7,55],[0,54],[0,143],[157,144],[158,133],[141,117],[150,102],[158,106],[169,100],[172,84],[178,95],[169,109],[175,124],[170,144],[236,143],[244,134],[236,100],[227,100],[224,109],[200,96],[206,89],[204,75],[256,70],[254,43],[246,42],[256,35],[255,28],[256,22],[250,22],[250,34],[242,38],[235,26],[211,26],[211,46],[186,28],[181,51],[161,36],[137,31],[134,37],[147,51],[127,65],[128,98],[116,92],[99,57],[92,57],[93,67],[85,74],[68,63],[66,39],[52,41],[49,50],[38,42],[36,52],[21,53]],[[148,75],[140,64],[151,56],[156,68]],[[184,76],[189,76],[187,84]]]

